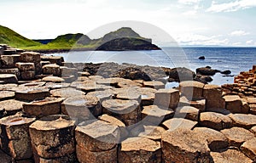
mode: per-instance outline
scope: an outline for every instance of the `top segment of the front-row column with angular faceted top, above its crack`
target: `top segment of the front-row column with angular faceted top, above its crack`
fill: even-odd
[[[75,131],[78,146],[91,152],[113,149],[119,142],[119,127],[105,121],[84,121]]]

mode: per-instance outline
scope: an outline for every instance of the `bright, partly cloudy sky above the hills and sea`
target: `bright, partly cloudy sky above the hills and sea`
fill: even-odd
[[[256,0],[0,0],[0,11],[0,25],[30,39],[136,20],[180,45],[256,46]]]

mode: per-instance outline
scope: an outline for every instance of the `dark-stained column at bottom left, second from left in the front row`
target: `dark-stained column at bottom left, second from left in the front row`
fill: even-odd
[[[35,155],[55,159],[75,152],[75,121],[66,115],[46,116],[29,126]]]

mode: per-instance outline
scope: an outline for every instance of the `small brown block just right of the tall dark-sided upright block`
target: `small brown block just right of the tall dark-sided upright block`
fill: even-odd
[[[226,102],[226,109],[231,113],[241,113],[241,98],[238,95],[224,96]]]

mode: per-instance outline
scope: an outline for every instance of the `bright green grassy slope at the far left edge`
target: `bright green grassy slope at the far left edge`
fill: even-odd
[[[27,48],[41,44],[26,37],[22,37],[20,34],[2,25],[0,25],[0,43],[9,44],[14,48]]]

